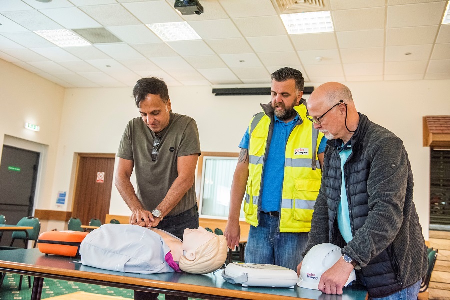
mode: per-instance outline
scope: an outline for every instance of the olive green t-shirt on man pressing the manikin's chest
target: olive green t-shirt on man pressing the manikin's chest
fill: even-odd
[[[173,181],[178,177],[177,160],[180,156],[200,155],[200,138],[195,120],[186,115],[170,113],[167,127],[158,133],[158,159],[151,160],[155,133],[142,118],[128,122],[117,156],[134,162],[137,197],[146,210],[153,211],[162,202]],[[181,201],[167,215],[178,215],[196,203],[195,181]]]

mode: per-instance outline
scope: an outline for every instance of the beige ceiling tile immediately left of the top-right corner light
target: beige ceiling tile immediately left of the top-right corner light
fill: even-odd
[[[438,25],[445,2],[388,6],[387,28]]]

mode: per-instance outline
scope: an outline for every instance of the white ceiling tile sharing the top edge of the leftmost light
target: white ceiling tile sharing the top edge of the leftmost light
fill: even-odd
[[[2,14],[31,31],[64,29],[37,10],[9,11]]]

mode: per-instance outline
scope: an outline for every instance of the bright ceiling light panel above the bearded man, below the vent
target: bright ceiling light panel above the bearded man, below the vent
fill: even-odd
[[[281,14],[284,27],[289,34],[333,32],[330,11],[314,11]]]

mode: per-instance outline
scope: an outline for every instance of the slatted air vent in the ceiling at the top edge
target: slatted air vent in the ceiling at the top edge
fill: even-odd
[[[331,10],[329,0],[272,0],[279,13]]]

